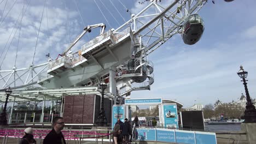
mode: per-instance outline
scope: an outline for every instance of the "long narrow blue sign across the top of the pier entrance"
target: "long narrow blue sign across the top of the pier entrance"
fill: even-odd
[[[161,104],[162,99],[125,99],[125,104]]]

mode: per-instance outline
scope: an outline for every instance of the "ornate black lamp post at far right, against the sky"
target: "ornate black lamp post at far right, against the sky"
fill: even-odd
[[[240,70],[237,72],[237,75],[241,77],[243,85],[245,85],[245,91],[246,91],[246,110],[245,110],[245,121],[244,123],[256,123],[256,110],[255,106],[252,103],[252,100],[250,98],[248,88],[247,88],[247,83],[246,77],[248,75],[248,72],[245,71],[242,67],[240,66]]]

